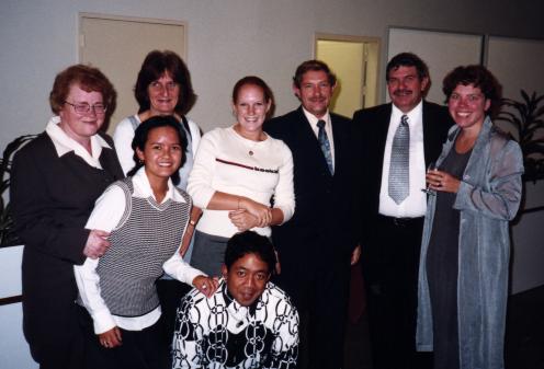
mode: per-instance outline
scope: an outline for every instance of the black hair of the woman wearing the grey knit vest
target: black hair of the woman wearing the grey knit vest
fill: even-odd
[[[134,150],[134,162],[136,163],[135,166],[126,173],[127,176],[132,176],[136,174],[136,172],[144,166],[144,163],[141,163],[138,159],[138,155],[136,154],[136,149],[139,149],[140,151],[144,151],[146,147],[147,139],[149,138],[149,132],[154,130],[155,128],[160,128],[160,127],[172,127],[175,132],[178,134],[178,138],[180,140],[181,145],[181,151],[183,152],[183,155],[181,158],[181,163],[180,168],[183,166],[185,163],[185,151],[188,147],[188,139],[185,136],[185,130],[181,127],[181,124],[178,122],[178,119],[172,116],[172,115],[156,115],[150,117],[147,120],[141,122],[141,124],[138,125],[136,130],[134,131],[134,138],[132,142],[132,148]],[[179,170],[175,171],[171,175],[172,182],[174,185],[180,183],[180,173]]]

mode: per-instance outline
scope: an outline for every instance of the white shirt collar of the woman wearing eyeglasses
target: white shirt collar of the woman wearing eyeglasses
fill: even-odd
[[[91,151],[86,150],[79,142],[66,135],[66,132],[58,126],[60,123],[59,116],[54,116],[47,123],[45,128],[46,134],[50,137],[57,155],[60,158],[64,154],[73,151],[73,153],[81,159],[83,159],[89,165],[102,169],[100,164],[100,154],[102,153],[102,148],[111,149],[110,145],[100,137],[100,135],[91,136]]]

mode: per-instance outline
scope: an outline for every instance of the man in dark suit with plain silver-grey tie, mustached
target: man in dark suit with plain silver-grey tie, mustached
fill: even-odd
[[[418,56],[395,56],[386,78],[392,103],[353,116],[354,228],[362,246],[374,368],[421,369],[429,366],[415,345],[427,208],[421,189],[453,122],[445,107],[423,101],[429,70]]]

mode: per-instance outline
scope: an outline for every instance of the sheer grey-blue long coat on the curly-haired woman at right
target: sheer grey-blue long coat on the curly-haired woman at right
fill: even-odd
[[[450,129],[437,164],[454,147]],[[523,158],[519,145],[484,122],[458,188],[461,211],[457,310],[462,369],[502,369],[510,257],[509,221],[521,201]],[[426,260],[435,209],[429,196],[419,267],[418,350],[432,350],[432,313]]]

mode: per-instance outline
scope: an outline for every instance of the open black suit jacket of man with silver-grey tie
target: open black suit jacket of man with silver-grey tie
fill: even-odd
[[[356,162],[355,221],[360,230],[373,229],[379,208],[379,188],[385,141],[389,129],[392,104],[361,109],[353,115],[353,157]],[[423,101],[423,149],[426,168],[438,159],[449,128],[454,124],[445,106]],[[372,234],[372,232],[365,232]],[[361,240],[360,240],[361,241]]]

